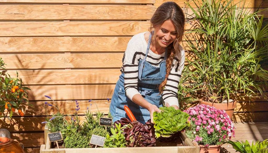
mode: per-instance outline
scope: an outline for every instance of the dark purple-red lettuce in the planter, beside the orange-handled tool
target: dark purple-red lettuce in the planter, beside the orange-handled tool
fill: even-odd
[[[125,126],[124,136],[127,147],[152,147],[155,146],[154,128],[150,121],[142,124],[138,121],[129,121],[127,118],[121,118],[115,124]],[[114,124],[114,126],[115,126]]]

